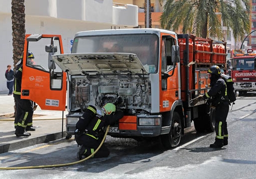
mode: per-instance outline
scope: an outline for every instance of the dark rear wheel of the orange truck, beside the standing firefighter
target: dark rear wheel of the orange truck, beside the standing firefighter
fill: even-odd
[[[199,117],[194,119],[194,126],[197,132],[215,131],[215,109],[209,105],[202,105],[198,109]]]

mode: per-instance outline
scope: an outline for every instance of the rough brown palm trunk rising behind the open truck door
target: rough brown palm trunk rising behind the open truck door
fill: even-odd
[[[19,61],[25,42],[25,0],[12,0],[13,60]]]

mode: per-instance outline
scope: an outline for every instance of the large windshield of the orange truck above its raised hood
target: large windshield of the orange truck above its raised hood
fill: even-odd
[[[134,53],[148,73],[158,69],[158,37],[153,34],[76,37],[72,53]]]

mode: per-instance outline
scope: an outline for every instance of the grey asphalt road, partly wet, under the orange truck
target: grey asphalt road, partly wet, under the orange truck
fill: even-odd
[[[238,97],[228,115],[229,144],[212,149],[215,133],[186,130],[181,145],[164,150],[158,140],[107,137],[107,158],[50,168],[1,170],[1,178],[255,178],[256,95]],[[38,166],[76,161],[73,138],[0,154],[0,167]]]

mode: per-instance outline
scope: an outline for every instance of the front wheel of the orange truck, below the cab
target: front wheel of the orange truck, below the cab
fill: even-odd
[[[162,145],[166,149],[176,147],[180,144],[181,136],[182,136],[181,117],[179,113],[174,112],[170,132],[168,134],[161,135]]]

